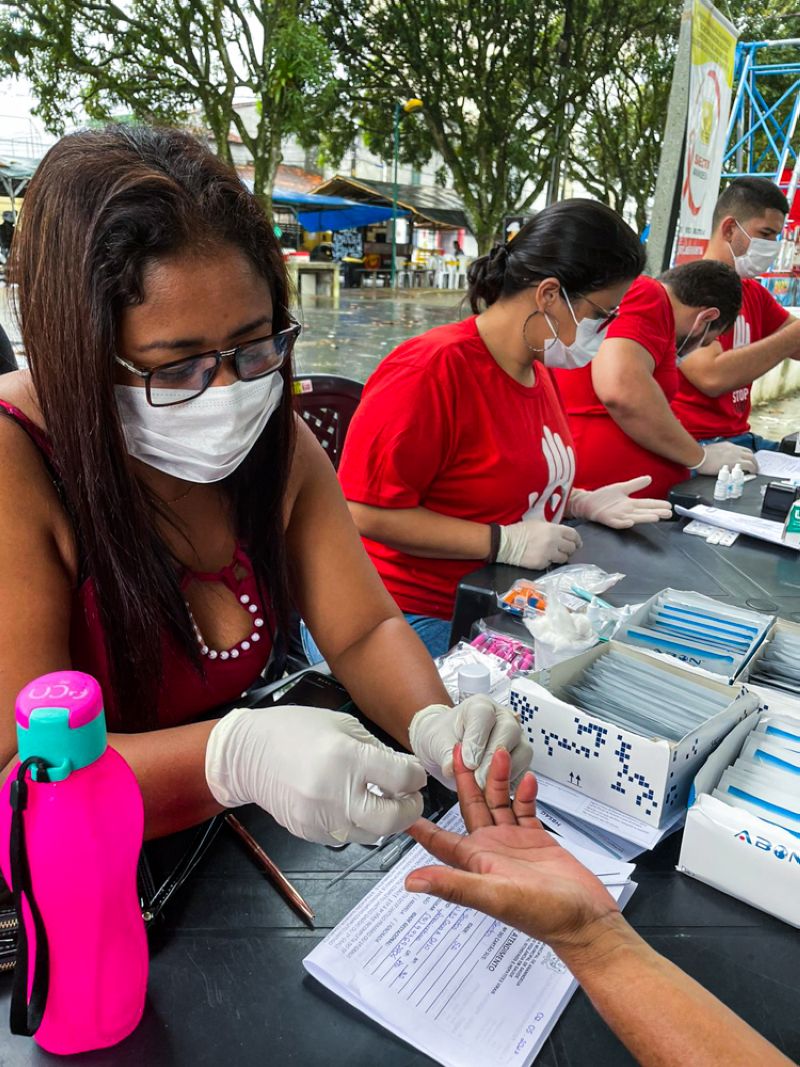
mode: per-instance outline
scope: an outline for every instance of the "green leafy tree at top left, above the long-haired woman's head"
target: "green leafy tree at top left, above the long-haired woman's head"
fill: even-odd
[[[17,0],[5,12],[0,73],[30,80],[49,129],[81,113],[187,123],[199,112],[228,159],[234,127],[266,201],[282,139],[313,139],[331,114],[330,50],[306,0]],[[249,96],[254,122],[234,107]]]

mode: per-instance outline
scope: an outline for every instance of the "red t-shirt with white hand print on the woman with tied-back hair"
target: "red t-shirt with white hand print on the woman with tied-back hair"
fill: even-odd
[[[521,385],[474,317],[430,330],[386,356],[367,382],[339,466],[349,500],[428,508],[478,523],[559,522],[575,460],[549,371]],[[365,538],[404,611],[449,619],[480,559],[423,559]]]

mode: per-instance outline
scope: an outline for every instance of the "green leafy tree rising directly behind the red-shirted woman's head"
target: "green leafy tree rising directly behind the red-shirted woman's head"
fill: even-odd
[[[486,248],[511,207],[547,181],[564,108],[580,113],[624,42],[654,23],[655,0],[330,0],[320,13],[346,94],[391,158],[394,105],[418,96],[402,155],[444,158]],[[339,145],[340,147],[340,145]]]

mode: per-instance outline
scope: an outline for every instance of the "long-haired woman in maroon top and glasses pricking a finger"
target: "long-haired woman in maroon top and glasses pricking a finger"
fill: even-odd
[[[293,415],[283,256],[231,169],[177,131],[64,138],[12,268],[30,372],[0,385],[0,766],[16,694],[71,667],[101,683],[148,835],[256,802],[373,841],[419,814],[426,773],[452,781],[454,739],[479,776],[498,746],[524,770],[508,710],[445,706]],[[291,607],[414,755],[316,707],[213,718],[279,659]]]

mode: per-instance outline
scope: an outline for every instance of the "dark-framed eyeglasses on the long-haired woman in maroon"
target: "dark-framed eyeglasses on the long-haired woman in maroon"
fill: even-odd
[[[303,329],[291,317],[289,322],[286,330],[249,340],[246,345],[238,345],[224,351],[202,352],[199,355],[162,363],[150,369],[137,367],[119,355],[115,355],[114,360],[121,367],[144,381],[148,404],[153,408],[170,408],[194,400],[205,393],[217,378],[223,360],[234,361],[237,377],[243,382],[274,375],[291,355],[294,341]]]

